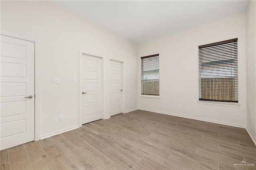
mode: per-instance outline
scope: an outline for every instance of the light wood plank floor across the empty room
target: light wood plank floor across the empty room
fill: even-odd
[[[230,170],[242,160],[256,165],[256,146],[244,128],[137,110],[0,156],[1,170]]]

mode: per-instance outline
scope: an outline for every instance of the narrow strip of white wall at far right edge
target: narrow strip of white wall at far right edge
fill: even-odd
[[[256,142],[256,1],[246,10],[247,126]]]

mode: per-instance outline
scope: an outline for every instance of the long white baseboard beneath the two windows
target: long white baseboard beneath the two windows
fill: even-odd
[[[230,123],[230,122],[224,122],[224,121],[216,121],[216,120],[212,120],[212,119],[204,119],[204,118],[200,118],[200,117],[180,115],[180,114],[168,113],[168,112],[163,112],[163,111],[156,111],[156,110],[145,109],[145,108],[139,108],[139,109],[143,110],[143,111],[150,111],[150,112],[161,113],[161,114],[164,114],[164,115],[172,115],[172,116],[184,117],[184,118],[188,118],[188,119],[195,119],[195,120],[198,120],[198,121],[206,121],[206,122],[211,122],[211,123],[218,123],[218,124],[228,125],[228,126],[232,126],[232,127],[246,128],[246,125],[241,125],[241,124],[236,124],[236,123]]]

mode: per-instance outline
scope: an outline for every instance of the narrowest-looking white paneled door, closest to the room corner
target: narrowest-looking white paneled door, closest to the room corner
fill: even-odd
[[[122,113],[122,63],[110,60],[110,115]]]

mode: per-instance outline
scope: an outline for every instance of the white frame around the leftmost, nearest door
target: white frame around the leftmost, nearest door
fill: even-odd
[[[7,32],[4,30],[0,30],[1,35],[3,36],[8,36],[11,38],[17,38],[20,40],[25,40],[29,42],[34,43],[34,87],[35,87],[35,110],[34,110],[34,141],[40,140],[40,96],[41,96],[41,84],[40,84],[40,79],[41,79],[41,67],[40,67],[40,57],[37,55],[37,48],[38,44],[36,43],[37,41],[34,38],[26,37],[26,36],[21,36],[18,34],[14,34],[12,32]]]

